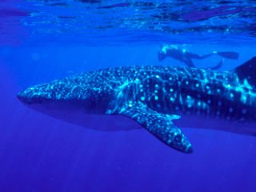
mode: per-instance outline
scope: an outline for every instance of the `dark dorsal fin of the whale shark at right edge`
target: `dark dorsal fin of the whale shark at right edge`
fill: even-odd
[[[246,80],[250,83],[250,86],[256,88],[256,57],[238,66],[234,71],[238,74],[238,78],[241,82]]]

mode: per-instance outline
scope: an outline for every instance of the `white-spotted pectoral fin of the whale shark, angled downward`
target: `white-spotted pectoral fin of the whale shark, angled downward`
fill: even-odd
[[[180,118],[180,116],[159,114],[146,106],[126,106],[122,108],[119,114],[134,119],[151,134],[166,143],[167,146],[185,153],[192,152],[189,140],[172,122],[173,119]]]

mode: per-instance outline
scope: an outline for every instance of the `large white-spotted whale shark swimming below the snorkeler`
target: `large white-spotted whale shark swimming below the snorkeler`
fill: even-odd
[[[233,70],[120,66],[74,74],[18,93],[56,118],[128,118],[167,146],[192,153],[181,128],[256,135],[256,57]],[[119,126],[125,126],[120,123]],[[106,125],[107,126],[107,125]]]

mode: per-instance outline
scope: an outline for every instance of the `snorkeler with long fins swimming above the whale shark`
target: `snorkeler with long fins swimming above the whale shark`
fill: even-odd
[[[178,46],[174,45],[164,45],[161,50],[158,51],[158,60],[161,62],[166,57],[177,59],[180,62],[184,62],[187,66],[195,67],[192,59],[204,59],[212,55],[218,55],[222,57],[222,60],[218,62],[216,66],[210,67],[211,70],[218,70],[223,64],[223,58],[237,59],[238,53],[231,51],[213,51],[210,54],[194,54],[186,51],[186,49],[179,49]]]

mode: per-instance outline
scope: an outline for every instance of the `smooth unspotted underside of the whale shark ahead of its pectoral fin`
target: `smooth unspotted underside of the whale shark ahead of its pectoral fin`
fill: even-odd
[[[113,114],[90,114],[86,113],[82,106],[74,105],[74,103],[69,102],[53,102],[44,103],[44,105],[34,104],[29,106],[34,110],[49,115],[50,117],[92,130],[117,131],[142,128],[138,122],[135,122],[125,116]]]

